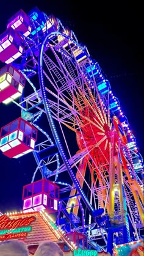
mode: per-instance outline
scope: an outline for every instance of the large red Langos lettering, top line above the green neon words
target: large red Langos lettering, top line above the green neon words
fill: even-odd
[[[7,215],[2,215],[0,216],[0,230],[27,227],[35,220],[36,218],[34,216],[19,219],[10,219],[9,217],[7,217]]]

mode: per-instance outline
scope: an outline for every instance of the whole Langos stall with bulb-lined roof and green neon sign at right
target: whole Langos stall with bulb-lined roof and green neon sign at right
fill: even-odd
[[[70,237],[76,238],[77,244]],[[59,244],[65,256],[105,256],[105,252],[98,252],[87,247],[86,237],[79,233],[67,235],[52,219],[48,210],[7,213],[0,215],[0,243],[2,241],[20,239],[29,247],[29,255],[34,255],[38,245],[43,241],[54,241]],[[79,241],[78,241],[79,240]],[[84,243],[83,243],[84,242]],[[110,256],[110,255],[109,255]]]

